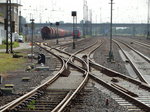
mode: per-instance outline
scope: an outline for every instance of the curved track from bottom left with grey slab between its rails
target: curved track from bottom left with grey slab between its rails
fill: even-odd
[[[51,51],[51,53],[55,52],[56,53],[55,55],[57,55],[57,57],[58,57],[58,55],[61,54],[60,52],[57,52],[55,49],[51,49],[48,47],[45,48],[45,50]],[[73,55],[71,55],[71,57],[72,56]],[[69,58],[68,55],[63,54],[63,59],[62,59],[63,62],[64,62],[64,60],[65,60],[65,62],[68,62],[67,60],[69,60],[69,59],[71,59],[71,58]],[[66,73],[68,72],[69,76],[66,77],[66,79],[64,79],[64,78],[58,79],[58,75],[57,75],[57,78],[54,79],[54,82],[57,79],[57,81],[55,83],[51,82],[51,80],[46,81],[44,84],[40,85],[40,87],[25,94],[18,100],[11,102],[9,105],[6,105],[1,111],[2,112],[3,111],[23,111],[23,112],[44,111],[45,112],[47,110],[54,111],[54,112],[57,111],[60,108],[60,106],[64,103],[64,101],[66,99],[68,99],[68,97],[75,96],[75,94],[82,88],[83,84],[85,83],[85,81],[88,78],[87,77],[88,73],[85,70],[81,70],[81,69],[80,69],[80,71],[77,70],[78,67],[75,67],[75,65],[69,66],[69,64],[64,63],[62,69],[57,74],[60,74],[61,76],[63,76],[64,74],[66,75]],[[68,71],[68,69],[70,69],[70,70]],[[76,76],[76,74],[78,74],[78,75]],[[79,74],[81,74],[81,75],[79,75]],[[83,77],[83,75],[86,75],[86,76]],[[69,81],[70,79],[74,79],[74,81],[71,80],[72,81],[71,82],[71,81]],[[66,82],[66,84],[64,84],[65,82]],[[69,83],[70,84],[75,83],[75,84],[73,85],[73,87],[71,87]],[[60,87],[61,84],[63,84],[62,87]],[[43,99],[43,97],[52,99],[53,95],[51,95],[51,93],[52,93],[52,91],[54,91],[53,89],[56,89],[56,88],[57,88],[57,90],[56,90],[57,92],[55,91],[54,99],[52,101],[49,101],[46,103],[47,100],[45,100],[45,98]],[[40,94],[40,97],[36,94],[39,91],[39,89],[40,89],[40,93],[42,93],[42,94]],[[68,89],[69,89],[69,91],[68,91]],[[59,92],[65,91],[65,92],[63,92],[63,95],[62,94],[60,95],[60,94],[58,94],[58,91]],[[63,97],[60,98],[60,96],[63,96]],[[58,100],[55,100],[56,97],[58,98]],[[50,100],[50,99],[48,99],[48,100]],[[72,98],[70,98],[70,99],[72,99]],[[45,103],[43,104],[44,100],[45,100]],[[47,105],[53,105],[54,101],[56,101],[55,106],[53,106],[53,107],[47,106]],[[34,110],[33,110],[33,108],[34,108]]]

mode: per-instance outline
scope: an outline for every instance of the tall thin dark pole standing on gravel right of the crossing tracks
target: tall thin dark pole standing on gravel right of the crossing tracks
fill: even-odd
[[[113,10],[113,0],[111,0],[111,14],[110,14],[110,51],[109,51],[109,61],[114,60],[113,51],[112,51],[112,10]]]

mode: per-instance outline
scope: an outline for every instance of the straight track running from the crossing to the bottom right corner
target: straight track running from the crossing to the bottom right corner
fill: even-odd
[[[90,55],[91,53],[87,54]],[[78,56],[80,57],[80,55]],[[148,85],[97,65],[92,61],[90,64],[92,66],[90,65],[91,73],[89,75],[97,84],[103,87],[100,90],[107,91],[107,93],[111,92],[111,97],[129,111],[148,112],[150,109],[150,88]],[[99,88],[99,86],[96,87]],[[133,88],[136,88],[136,92],[133,91]]]

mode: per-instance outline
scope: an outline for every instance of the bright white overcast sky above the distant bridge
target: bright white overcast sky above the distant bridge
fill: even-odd
[[[114,23],[147,23],[148,0],[113,0]],[[87,0],[92,21],[110,22],[110,0]],[[21,0],[22,15],[36,22],[72,22],[71,11],[83,19],[83,0]]]

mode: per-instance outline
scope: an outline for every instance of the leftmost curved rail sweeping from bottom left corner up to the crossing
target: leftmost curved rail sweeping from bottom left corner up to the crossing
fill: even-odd
[[[56,56],[56,57],[58,57],[58,56]],[[59,58],[59,59],[61,60],[61,58]],[[36,87],[29,93],[21,96],[20,98],[10,102],[9,104],[6,104],[5,106],[3,106],[1,108],[1,111],[2,112],[3,111],[11,111],[11,110],[17,111],[18,109],[26,106],[27,104],[29,104],[30,102],[32,102],[33,100],[35,100],[36,98],[41,96],[44,93],[43,91],[45,90],[45,88],[47,88],[47,86],[49,84],[53,83],[60,76],[60,74],[64,71],[64,63],[65,62],[63,60],[61,60],[61,63],[62,63],[61,69],[51,79],[47,80],[46,82],[44,82],[40,86]]]

